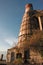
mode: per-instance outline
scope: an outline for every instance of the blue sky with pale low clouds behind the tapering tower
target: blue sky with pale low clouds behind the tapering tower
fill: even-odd
[[[27,3],[32,3],[35,10],[43,10],[43,0],[0,0],[0,51],[17,42]]]

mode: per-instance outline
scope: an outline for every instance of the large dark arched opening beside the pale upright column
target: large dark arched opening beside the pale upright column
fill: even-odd
[[[30,23],[31,23],[31,29],[33,30],[39,29],[39,21],[36,16],[30,18]]]

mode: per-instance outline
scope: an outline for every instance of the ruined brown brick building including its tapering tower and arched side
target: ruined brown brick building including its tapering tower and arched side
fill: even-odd
[[[18,44],[8,49],[7,62],[13,62],[17,58],[31,59],[37,63],[41,62],[40,53],[31,47],[32,43],[30,44],[29,42],[31,36],[38,31],[43,31],[43,10],[33,10],[32,4],[26,4],[18,36]]]

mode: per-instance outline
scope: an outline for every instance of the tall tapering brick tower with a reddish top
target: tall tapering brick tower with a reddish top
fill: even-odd
[[[30,22],[30,12],[33,10],[32,4],[26,4],[25,13],[22,19],[19,37],[18,37],[18,46],[22,43],[28,43],[29,37],[32,34],[31,22]]]

